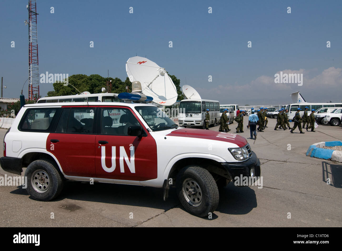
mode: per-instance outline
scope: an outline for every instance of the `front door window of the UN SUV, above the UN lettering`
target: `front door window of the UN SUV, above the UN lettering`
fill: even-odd
[[[102,108],[101,134],[128,135],[128,127],[140,125],[133,113],[124,108]]]

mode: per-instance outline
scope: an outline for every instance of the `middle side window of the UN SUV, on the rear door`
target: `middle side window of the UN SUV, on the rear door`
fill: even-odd
[[[96,108],[65,108],[58,121],[56,133],[93,133]]]

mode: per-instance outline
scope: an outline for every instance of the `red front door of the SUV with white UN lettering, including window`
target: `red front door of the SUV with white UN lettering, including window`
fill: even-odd
[[[129,109],[102,108],[100,123],[100,132],[95,139],[97,178],[157,178],[156,142]],[[128,135],[128,127],[133,125],[142,126],[142,137]]]

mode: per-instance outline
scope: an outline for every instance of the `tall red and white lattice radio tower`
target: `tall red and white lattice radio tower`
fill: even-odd
[[[38,37],[36,0],[29,0],[28,10],[28,98],[39,99]],[[27,22],[26,22],[27,23]]]

